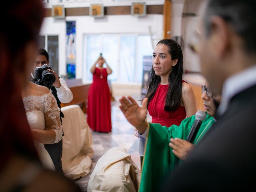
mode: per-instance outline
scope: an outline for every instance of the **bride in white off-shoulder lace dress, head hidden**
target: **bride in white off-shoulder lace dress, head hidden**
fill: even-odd
[[[22,98],[38,156],[44,167],[55,170],[44,144],[57,143],[62,138],[60,108],[56,99],[48,88],[32,82],[23,90]]]

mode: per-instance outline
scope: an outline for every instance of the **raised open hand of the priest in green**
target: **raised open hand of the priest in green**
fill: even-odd
[[[130,96],[128,98],[122,97],[119,101],[121,103],[119,108],[122,110],[125,118],[140,133],[143,133],[148,127],[148,123],[145,121],[148,112],[148,98],[143,99],[142,107]]]

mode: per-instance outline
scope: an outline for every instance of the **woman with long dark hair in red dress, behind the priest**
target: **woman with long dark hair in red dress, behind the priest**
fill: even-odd
[[[146,97],[152,123],[170,127],[196,113],[191,86],[182,80],[183,54],[172,39],[160,40],[153,52],[153,66]]]

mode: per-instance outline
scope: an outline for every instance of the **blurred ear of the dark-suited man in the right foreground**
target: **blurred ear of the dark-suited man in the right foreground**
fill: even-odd
[[[229,27],[219,16],[211,18],[210,46],[218,58],[222,58],[230,48]]]

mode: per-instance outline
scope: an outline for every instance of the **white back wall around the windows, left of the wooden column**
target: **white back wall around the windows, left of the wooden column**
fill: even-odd
[[[50,0],[46,7],[58,4],[58,0]],[[106,4],[105,4],[106,2]],[[162,4],[162,0],[148,0],[146,4]],[[95,3],[95,2],[90,2]],[[100,2],[103,3],[103,2]],[[130,5],[131,1],[113,2],[104,0],[104,6]],[[89,3],[66,3],[65,7],[89,6]],[[40,31],[42,35],[59,35],[59,76],[66,74],[66,21],[76,21],[76,78],[82,78],[83,60],[83,35],[102,33],[133,33],[150,34],[151,26],[154,44],[162,39],[163,16],[160,14],[148,14],[145,17],[131,15],[109,15],[104,18],[91,16],[67,16],[65,19],[44,18]]]

